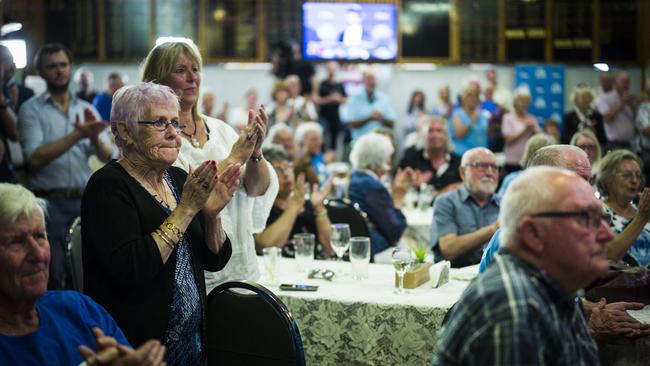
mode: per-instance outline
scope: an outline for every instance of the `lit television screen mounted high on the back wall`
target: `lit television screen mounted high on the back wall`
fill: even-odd
[[[302,52],[310,60],[395,60],[397,8],[382,3],[306,2]]]

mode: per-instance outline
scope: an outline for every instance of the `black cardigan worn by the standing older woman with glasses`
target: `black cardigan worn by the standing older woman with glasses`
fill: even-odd
[[[171,167],[182,194],[187,177]],[[163,263],[151,232],[167,218],[151,195],[116,161],[90,178],[81,201],[84,292],[115,318],[132,346],[164,341],[170,317],[176,250]],[[203,270],[222,269],[232,253],[226,240],[219,254],[204,244],[204,218],[196,215],[186,230],[194,280],[201,298],[205,350],[206,293]]]

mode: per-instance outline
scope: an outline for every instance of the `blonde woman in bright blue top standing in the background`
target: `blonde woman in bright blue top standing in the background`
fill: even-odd
[[[461,106],[452,115],[451,140],[454,151],[463,155],[475,147],[487,147],[489,113],[481,110],[480,86],[470,83],[463,89]]]

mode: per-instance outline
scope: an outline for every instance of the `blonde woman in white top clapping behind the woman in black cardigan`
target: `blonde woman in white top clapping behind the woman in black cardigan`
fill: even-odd
[[[222,211],[222,225],[231,238],[232,256],[226,267],[206,275],[208,291],[228,280],[257,280],[259,270],[253,233],[266,226],[266,218],[278,193],[278,178],[262,156],[267,116],[264,107],[248,113],[248,125],[238,135],[227,123],[200,115],[197,104],[202,60],[190,39],[177,39],[154,47],[143,64],[142,81],[172,88],[179,97],[184,125],[178,160],[174,165],[189,170],[205,160],[216,160],[218,169],[244,165],[242,184]]]

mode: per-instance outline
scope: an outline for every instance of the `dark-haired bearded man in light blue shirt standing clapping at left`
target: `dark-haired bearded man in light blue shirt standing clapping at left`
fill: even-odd
[[[29,187],[48,202],[47,233],[51,244],[50,289],[65,286],[65,237],[80,214],[81,195],[90,177],[88,158],[112,155],[97,110],[70,93],[72,54],[60,44],[46,44],[34,64],[47,90],[20,108],[18,129],[27,163]]]

